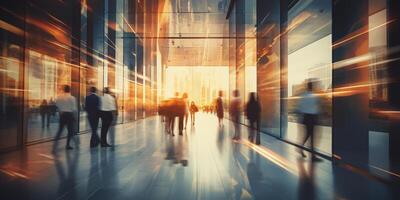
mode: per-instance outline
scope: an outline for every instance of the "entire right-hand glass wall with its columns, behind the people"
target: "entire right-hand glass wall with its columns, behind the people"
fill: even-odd
[[[394,146],[400,141],[393,134],[399,130],[393,114],[398,110],[393,88],[398,85],[389,81],[398,76],[389,74],[396,71],[398,54],[389,46],[397,44],[397,29],[387,26],[398,14],[393,13],[396,5],[388,4],[235,1],[228,12],[230,91],[245,95],[255,82],[262,106],[261,131],[307,149],[310,144],[303,143],[304,125],[297,108],[305,83],[313,81],[320,110],[314,150],[371,167],[377,174],[398,170],[393,166],[398,163],[393,161],[398,152]],[[248,16],[254,13],[250,10],[256,10],[255,21]]]

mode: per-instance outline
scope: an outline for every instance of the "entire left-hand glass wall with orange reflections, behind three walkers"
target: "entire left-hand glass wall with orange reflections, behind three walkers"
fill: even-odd
[[[119,113],[115,123],[153,115],[157,63],[144,72],[143,61],[145,54],[153,60],[159,55],[154,44],[143,43],[144,32],[157,27],[151,15],[144,16],[153,7],[135,0],[29,0],[25,6],[2,1],[0,150],[54,139],[55,98],[64,85],[78,101],[77,133],[89,130],[84,99],[92,86],[100,95],[102,88],[112,89]]]

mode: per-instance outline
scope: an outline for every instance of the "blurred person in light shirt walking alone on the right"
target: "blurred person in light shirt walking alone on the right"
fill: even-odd
[[[298,111],[303,117],[303,124],[306,129],[306,135],[302,145],[304,145],[307,140],[310,139],[312,158],[317,160],[314,155],[314,127],[318,120],[319,100],[313,92],[313,83],[311,81],[307,82],[307,90],[301,95]],[[302,150],[300,153],[303,157],[306,156]]]

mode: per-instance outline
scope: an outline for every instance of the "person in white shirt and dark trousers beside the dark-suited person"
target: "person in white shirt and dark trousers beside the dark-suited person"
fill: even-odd
[[[111,147],[111,145],[107,143],[107,133],[114,118],[113,112],[116,110],[115,99],[111,95],[110,89],[106,87],[104,88],[104,95],[100,99],[100,118],[102,123],[100,143],[102,147]]]

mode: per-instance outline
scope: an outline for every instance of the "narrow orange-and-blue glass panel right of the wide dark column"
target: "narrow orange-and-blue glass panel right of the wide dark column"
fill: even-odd
[[[370,0],[375,4],[375,9],[385,8],[385,3],[376,0]],[[376,5],[376,4],[379,4]],[[371,9],[371,8],[370,8]],[[369,64],[369,99],[370,99],[370,131],[368,133],[369,152],[368,161],[369,165],[375,169],[393,170],[390,161],[390,118],[383,116],[379,111],[384,111],[390,108],[388,102],[388,85],[387,85],[387,66],[382,64],[387,58],[387,27],[382,26],[376,28],[387,22],[387,10],[380,11],[370,10],[375,12],[369,16],[368,23],[369,29],[369,52],[371,55]]]

